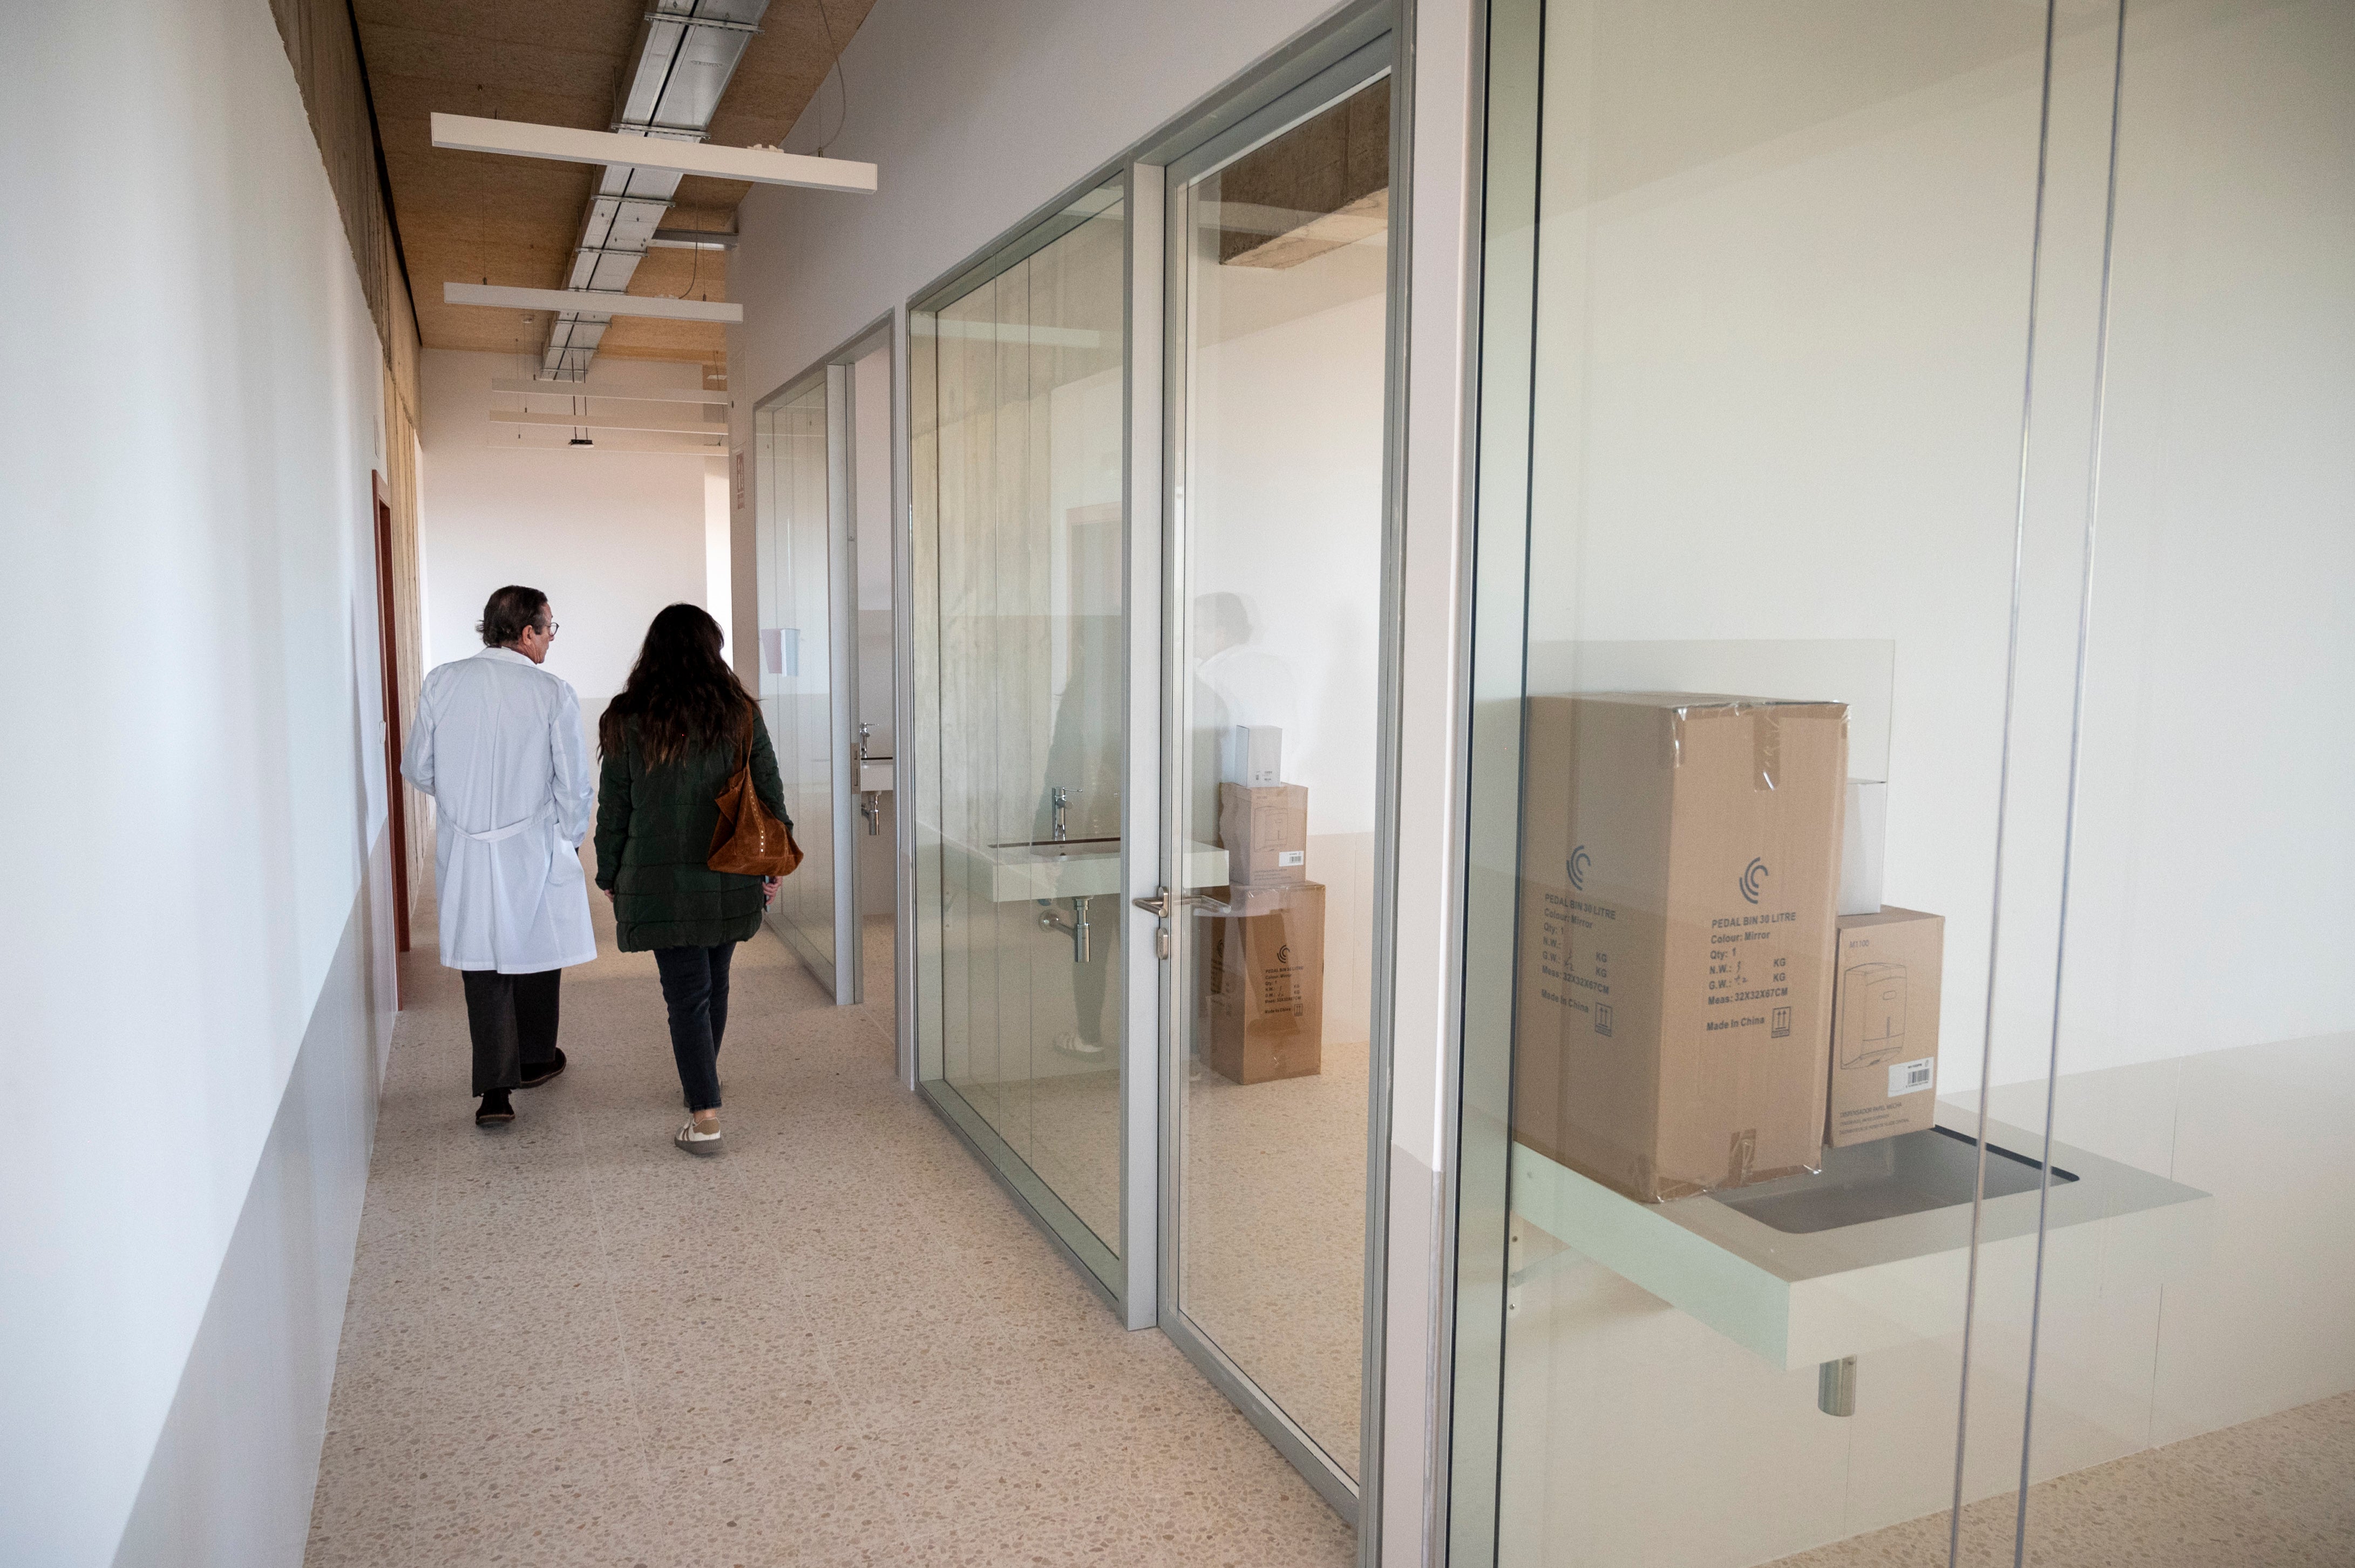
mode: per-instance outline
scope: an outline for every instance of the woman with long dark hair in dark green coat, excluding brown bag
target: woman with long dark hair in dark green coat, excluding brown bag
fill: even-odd
[[[721,626],[697,605],[655,617],[629,685],[596,727],[596,885],[612,899],[624,954],[655,954],[671,1010],[671,1055],[690,1121],[671,1140],[688,1154],[721,1151],[721,1036],[728,961],[761,930],[775,878],[714,871],[718,793],[751,749],[751,786],[784,815],[777,753],[761,709],[721,659]]]

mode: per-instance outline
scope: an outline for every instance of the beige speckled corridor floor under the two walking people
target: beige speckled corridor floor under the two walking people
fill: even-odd
[[[1349,1530],[1156,1333],[1123,1333],[893,1081],[883,1008],[735,963],[730,1151],[683,1118],[652,958],[568,972],[572,1069],[478,1132],[431,913],[377,1128],[313,1568],[1340,1568]]]

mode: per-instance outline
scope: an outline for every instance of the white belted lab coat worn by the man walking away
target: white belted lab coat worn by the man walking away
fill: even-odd
[[[511,647],[438,666],[400,777],[436,803],[445,965],[537,975],[596,958],[579,862],[596,786],[570,683]]]

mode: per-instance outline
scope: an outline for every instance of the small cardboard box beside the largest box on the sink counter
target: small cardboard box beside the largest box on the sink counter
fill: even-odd
[[[1945,916],[1896,906],[1839,916],[1830,1147],[1919,1132],[1936,1121],[1943,961]]]

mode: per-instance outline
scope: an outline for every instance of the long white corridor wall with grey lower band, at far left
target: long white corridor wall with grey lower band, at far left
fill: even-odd
[[[389,1005],[382,351],[264,0],[7,7],[0,144],[101,235],[0,254],[0,1561],[111,1561],[146,1481],[141,1542],[294,1563]],[[273,1370],[198,1377],[238,1309]]]

